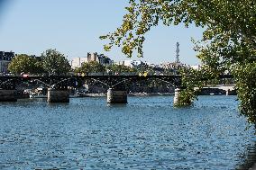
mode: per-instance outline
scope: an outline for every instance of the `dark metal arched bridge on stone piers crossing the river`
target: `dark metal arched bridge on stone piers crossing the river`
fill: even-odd
[[[230,78],[231,76],[219,76]],[[17,101],[16,86],[22,83],[40,83],[48,88],[49,103],[69,103],[69,87],[77,88],[83,83],[105,85],[107,103],[127,103],[127,90],[130,85],[143,85],[145,82],[157,81],[175,88],[174,103],[178,102],[181,76],[147,76],[147,75],[101,75],[101,76],[0,76],[0,102]]]

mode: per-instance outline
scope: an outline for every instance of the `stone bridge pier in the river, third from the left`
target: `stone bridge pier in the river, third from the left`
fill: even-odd
[[[107,103],[127,103],[127,90],[109,88],[107,90]]]

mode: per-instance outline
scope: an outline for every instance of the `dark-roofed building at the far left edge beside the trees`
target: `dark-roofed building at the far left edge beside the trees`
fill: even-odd
[[[0,73],[8,73],[8,66],[15,57],[14,52],[0,51]]]

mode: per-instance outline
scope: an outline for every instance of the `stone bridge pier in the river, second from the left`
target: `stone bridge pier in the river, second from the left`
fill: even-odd
[[[48,88],[48,103],[69,103],[69,91],[67,89]]]

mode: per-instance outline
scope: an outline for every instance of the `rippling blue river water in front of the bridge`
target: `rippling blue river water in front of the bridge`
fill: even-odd
[[[248,169],[255,130],[235,99],[200,96],[183,109],[172,96],[0,103],[0,169]]]

